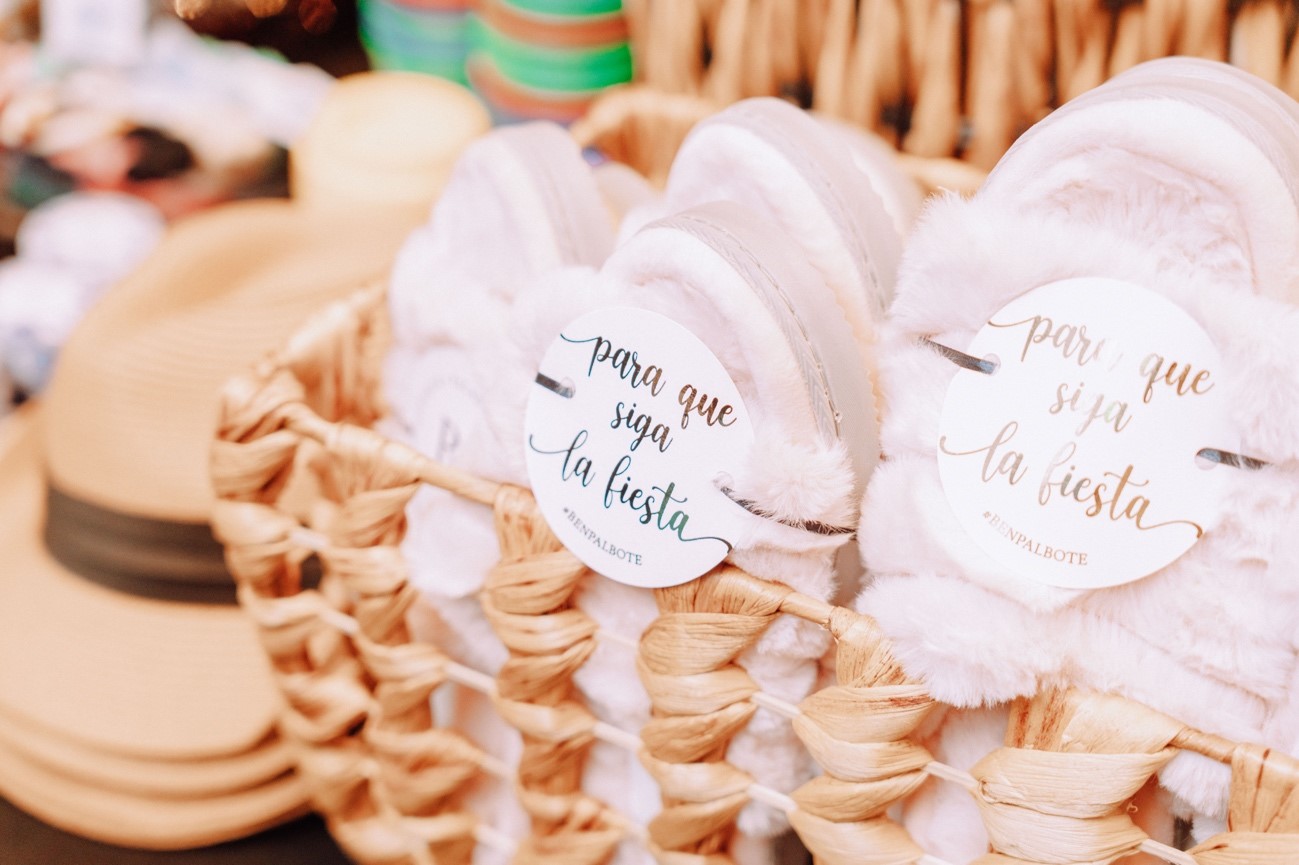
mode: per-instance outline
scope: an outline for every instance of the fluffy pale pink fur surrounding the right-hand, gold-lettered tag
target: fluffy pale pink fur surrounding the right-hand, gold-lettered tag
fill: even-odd
[[[1081,684],[1294,749],[1299,586],[1283,539],[1299,509],[1299,310],[1280,299],[1299,296],[1299,271],[1276,266],[1291,249],[1251,243],[1235,190],[1131,147],[1079,143],[1061,157],[1053,192],[948,196],[922,216],[886,334],[887,460],[861,523],[876,579],[859,607],[878,618],[907,669],[955,705]],[[1283,190],[1250,207],[1293,218]],[[1282,283],[1267,282],[1272,274],[1285,274]],[[961,530],[934,457],[956,368],[916,342],[961,348],[1011,299],[1077,275],[1141,283],[1186,309],[1222,355],[1241,449],[1273,464],[1213,469],[1231,473],[1221,525],[1156,574],[1096,591],[1008,574]],[[1220,766],[1187,755],[1161,778],[1190,809],[1222,813]]]

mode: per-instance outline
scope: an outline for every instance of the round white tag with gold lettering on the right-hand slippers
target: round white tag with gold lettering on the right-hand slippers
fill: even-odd
[[[979,330],[947,391],[938,469],[956,517],[1013,573],[1099,588],[1141,579],[1217,522],[1234,449],[1221,361],[1161,295],[1116,279],[1035,288]]]

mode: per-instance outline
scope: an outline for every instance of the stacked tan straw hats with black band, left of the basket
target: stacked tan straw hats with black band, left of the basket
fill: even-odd
[[[426,209],[425,168],[410,174]],[[0,795],[157,849],[305,810],[264,651],[207,526],[217,395],[381,277],[418,216],[370,196],[177,223],[82,321],[42,405],[3,427]]]

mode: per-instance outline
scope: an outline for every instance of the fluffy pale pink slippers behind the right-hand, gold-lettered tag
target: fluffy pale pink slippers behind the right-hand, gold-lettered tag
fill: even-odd
[[[956,707],[927,729],[935,757],[968,769],[1002,744],[1007,701],[1063,684],[1117,692],[1233,740],[1299,749],[1296,231],[1299,105],[1261,79],[1189,58],[1137,66],[1079,96],[1029,130],[976,196],[930,204],[879,352],[887,458],[861,508],[873,578],[856,604],[907,670]],[[969,351],[977,334],[1007,323],[1008,303],[1074,278],[1165,299],[1173,309],[1148,329],[1151,347],[1183,313],[1208,335],[1220,435],[1231,440],[1196,447],[1252,458],[1196,468],[1194,448],[1176,455],[1178,471],[1212,477],[1216,520],[1185,553],[1117,586],[1070,587],[1008,566],[963,522],[939,456],[948,388],[981,373],[937,347],[978,355]],[[1078,292],[1095,282],[1070,284]],[[1122,290],[1117,303],[1129,303]],[[1025,352],[1068,351],[1059,327],[1038,336],[1046,342]],[[1137,408],[1142,417],[1107,420],[1134,430],[1157,420],[1159,409]],[[1030,484],[1039,488],[1035,474]],[[1157,535],[1133,534],[1138,544]],[[1181,753],[1160,782],[1198,838],[1221,827],[1225,766]],[[964,791],[926,786],[905,817],[929,852],[951,861],[987,849]]]

